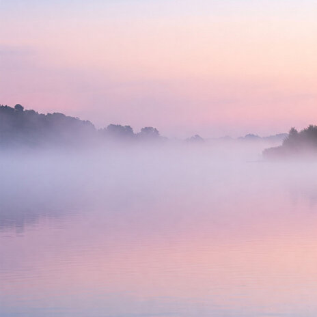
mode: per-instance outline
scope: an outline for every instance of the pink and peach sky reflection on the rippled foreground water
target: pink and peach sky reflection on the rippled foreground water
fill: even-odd
[[[135,206],[125,218],[101,209],[43,219],[22,237],[3,238],[5,298],[72,309],[96,301],[105,309],[109,296],[127,297],[198,305],[202,316],[215,307],[316,312],[317,215],[307,202],[264,193],[221,204],[204,196],[197,204],[195,195],[141,212]]]

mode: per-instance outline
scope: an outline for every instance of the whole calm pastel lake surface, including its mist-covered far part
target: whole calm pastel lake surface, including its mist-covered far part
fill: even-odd
[[[316,164],[118,155],[2,161],[1,317],[317,316]]]

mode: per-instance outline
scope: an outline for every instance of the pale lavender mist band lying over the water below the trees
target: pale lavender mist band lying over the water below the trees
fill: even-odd
[[[180,209],[192,204],[193,212],[206,207],[213,212],[239,197],[246,202],[258,196],[261,204],[263,195],[269,200],[272,191],[314,197],[314,162],[262,161],[263,147],[171,142],[3,150],[0,229],[21,230],[41,216],[59,217],[78,209],[126,216],[133,208],[151,213],[151,206],[175,201]]]

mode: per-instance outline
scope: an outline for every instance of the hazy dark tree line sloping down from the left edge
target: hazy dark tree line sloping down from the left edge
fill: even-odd
[[[38,113],[21,105],[0,105],[1,146],[85,144],[104,140],[163,140],[156,128],[148,126],[135,133],[131,126],[109,124],[97,129],[92,122],[63,113]]]

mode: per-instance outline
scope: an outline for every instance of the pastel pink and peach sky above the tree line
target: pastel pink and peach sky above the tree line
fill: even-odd
[[[316,0],[0,0],[0,104],[167,137],[317,124]]]

